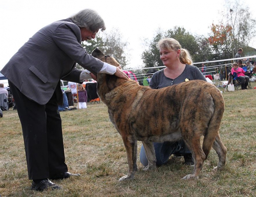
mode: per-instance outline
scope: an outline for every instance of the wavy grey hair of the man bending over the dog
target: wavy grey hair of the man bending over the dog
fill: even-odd
[[[69,19],[79,26],[79,28],[85,27],[92,32],[98,31],[99,29],[102,31],[106,29],[102,17],[92,9],[83,9],[72,17],[69,17]]]

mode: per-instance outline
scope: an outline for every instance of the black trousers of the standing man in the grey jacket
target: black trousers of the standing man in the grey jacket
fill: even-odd
[[[67,172],[55,94],[48,103],[40,105],[27,98],[11,82],[9,86],[22,126],[29,180]]]

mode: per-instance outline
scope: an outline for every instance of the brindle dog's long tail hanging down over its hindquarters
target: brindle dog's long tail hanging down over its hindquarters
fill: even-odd
[[[209,152],[212,148],[212,144],[215,141],[215,137],[218,135],[218,131],[219,131],[219,128],[221,125],[221,118],[222,118],[222,115],[224,113],[224,108],[225,108],[224,99],[222,97],[221,92],[219,92],[219,91],[213,92],[213,94],[211,94],[211,95],[212,95],[212,100],[214,102],[215,107],[214,107],[214,113],[209,122],[209,126],[205,133],[204,141],[203,141],[202,148],[203,148],[204,154],[206,156],[205,159],[207,159]]]

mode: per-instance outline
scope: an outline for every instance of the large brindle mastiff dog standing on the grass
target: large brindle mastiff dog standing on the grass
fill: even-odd
[[[92,55],[119,66],[99,49]],[[148,158],[144,169],[156,168],[153,142],[178,141],[181,138],[192,152],[195,166],[183,179],[198,178],[211,148],[218,154],[217,169],[223,168],[227,148],[221,142],[219,127],[224,113],[221,92],[203,80],[191,80],[163,89],[140,86],[134,80],[115,75],[97,75],[97,92],[108,106],[108,114],[122,136],[127,152],[128,174],[119,180],[134,178],[137,171],[137,140],[142,141]],[[203,147],[200,138],[204,136]]]

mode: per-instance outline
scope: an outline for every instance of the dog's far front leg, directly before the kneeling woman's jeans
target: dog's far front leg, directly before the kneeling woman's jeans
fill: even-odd
[[[142,142],[142,143],[143,143],[145,153],[146,153],[146,156],[148,159],[148,166],[146,166],[143,170],[155,169],[157,167],[156,166],[157,159],[156,159],[156,154],[154,151],[154,145],[152,142],[148,142],[148,143]]]

